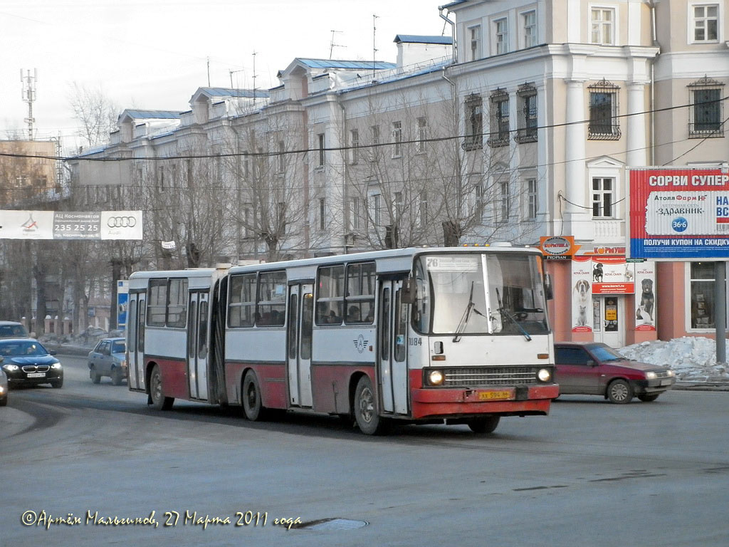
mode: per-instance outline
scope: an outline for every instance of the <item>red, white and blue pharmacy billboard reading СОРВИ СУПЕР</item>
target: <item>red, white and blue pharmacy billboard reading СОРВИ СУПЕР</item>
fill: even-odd
[[[729,258],[729,172],[720,168],[628,170],[628,256]]]

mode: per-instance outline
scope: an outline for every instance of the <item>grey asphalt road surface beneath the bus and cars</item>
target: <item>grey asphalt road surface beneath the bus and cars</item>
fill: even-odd
[[[371,438],[329,416],[154,411],[61,360],[62,389],[0,408],[0,547],[729,545],[729,392],[567,396],[494,435]]]

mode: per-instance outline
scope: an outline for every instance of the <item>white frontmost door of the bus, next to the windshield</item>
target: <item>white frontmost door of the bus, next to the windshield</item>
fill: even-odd
[[[378,383],[385,412],[408,414],[408,305],[401,301],[402,280],[380,283]]]

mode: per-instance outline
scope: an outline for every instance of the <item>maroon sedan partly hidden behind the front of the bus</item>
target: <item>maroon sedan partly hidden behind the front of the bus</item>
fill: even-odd
[[[668,367],[625,359],[600,342],[557,342],[555,381],[560,395],[602,395],[611,403],[648,403],[671,389],[676,374]]]

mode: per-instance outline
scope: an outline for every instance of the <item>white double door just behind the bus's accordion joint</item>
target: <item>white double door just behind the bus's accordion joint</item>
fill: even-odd
[[[187,381],[190,398],[208,400],[208,293],[190,291],[187,306]]]

